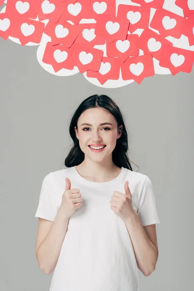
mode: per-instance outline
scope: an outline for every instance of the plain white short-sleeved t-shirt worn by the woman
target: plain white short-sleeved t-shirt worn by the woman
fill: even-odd
[[[69,218],[65,239],[49,291],[139,291],[138,267],[124,220],[111,209],[114,191],[125,194],[129,181],[132,203],[142,225],[159,224],[150,179],[122,167],[108,182],[82,178],[76,167],[50,172],[43,180],[35,217],[54,221],[65,191],[80,189],[82,206]],[[49,255],[49,254],[48,254]]]

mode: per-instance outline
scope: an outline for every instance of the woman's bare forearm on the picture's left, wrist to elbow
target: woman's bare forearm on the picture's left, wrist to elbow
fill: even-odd
[[[69,217],[65,216],[64,209],[60,207],[46,238],[37,249],[36,258],[39,268],[48,275],[52,273],[59,259],[68,221]]]

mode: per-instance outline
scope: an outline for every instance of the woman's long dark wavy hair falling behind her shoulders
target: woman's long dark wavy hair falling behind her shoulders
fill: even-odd
[[[102,107],[106,110],[108,110],[111,114],[113,114],[116,122],[117,122],[117,128],[120,128],[120,125],[123,125],[122,134],[120,138],[116,140],[116,146],[113,149],[112,153],[112,159],[113,163],[118,167],[124,167],[131,171],[132,167],[130,164],[129,156],[128,156],[128,134],[125,127],[125,123],[123,120],[122,113],[120,112],[120,109],[116,105],[116,103],[113,101],[112,98],[108,97],[107,95],[92,95],[85,100],[81,102],[77,110],[72,116],[70,126],[69,126],[69,134],[73,140],[73,146],[71,147],[67,157],[65,158],[65,166],[66,167],[72,167],[77,166],[84,160],[84,153],[82,152],[79,140],[76,136],[76,132],[74,127],[78,129],[78,119],[85,110],[89,108],[95,108],[95,107]],[[138,167],[139,168],[139,167]],[[138,169],[139,170],[139,169]]]

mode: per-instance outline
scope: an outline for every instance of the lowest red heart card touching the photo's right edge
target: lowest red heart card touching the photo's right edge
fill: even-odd
[[[160,65],[169,68],[174,76],[178,72],[190,73],[194,62],[194,52],[171,46],[163,46]]]

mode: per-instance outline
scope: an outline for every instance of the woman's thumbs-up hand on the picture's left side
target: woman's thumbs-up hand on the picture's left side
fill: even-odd
[[[69,178],[65,178],[65,191],[62,195],[61,207],[64,209],[65,215],[69,218],[78,208],[82,206],[80,189],[72,188]]]

